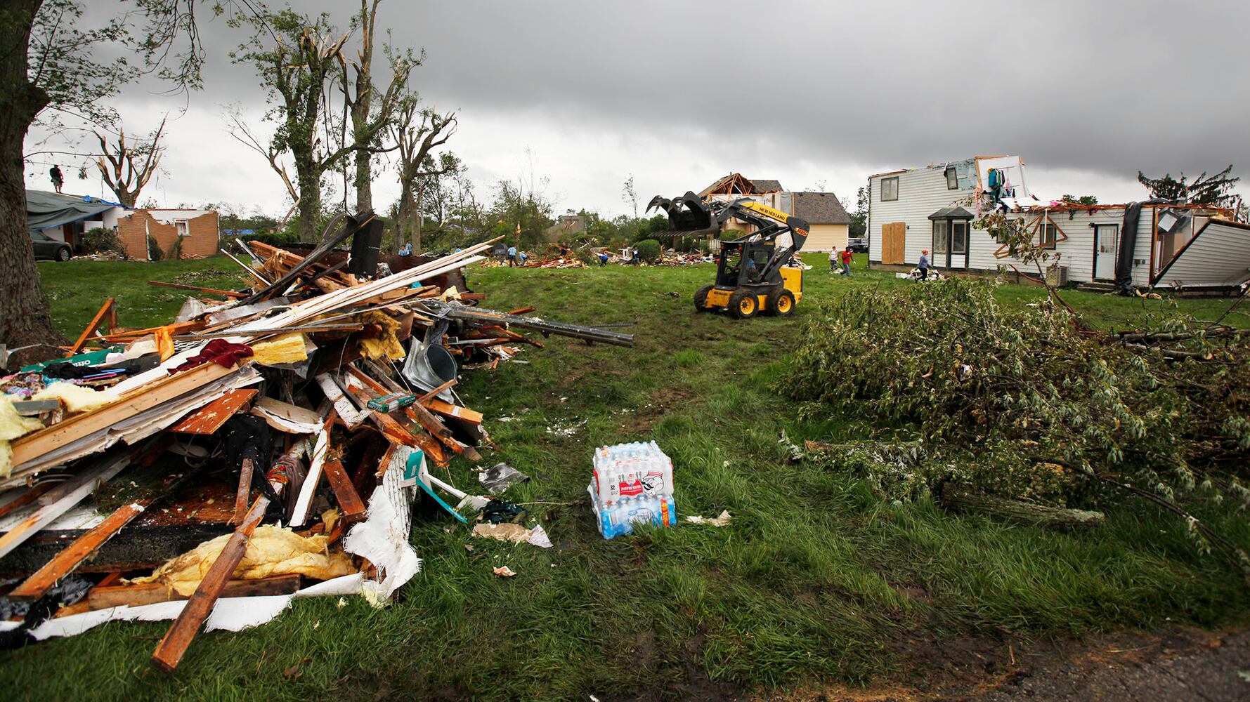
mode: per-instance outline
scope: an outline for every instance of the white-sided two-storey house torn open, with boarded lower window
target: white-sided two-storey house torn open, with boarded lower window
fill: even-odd
[[[1019,156],[961,161],[869,177],[869,265],[911,270],[928,249],[946,272],[1036,276],[1008,246],[975,227],[999,209],[1025,220],[1058,259],[1052,282],[1102,287],[1226,291],[1250,281],[1250,225],[1221,207],[1161,200],[1078,205],[1039,199]]]

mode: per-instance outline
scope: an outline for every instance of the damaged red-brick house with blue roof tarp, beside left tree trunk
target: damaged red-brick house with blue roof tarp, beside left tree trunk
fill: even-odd
[[[151,259],[156,246],[169,252],[179,241],[182,259],[218,252],[216,210],[126,207],[90,195],[28,190],[26,226],[69,244],[75,255],[86,254],[84,235],[96,227],[116,231],[131,259]]]

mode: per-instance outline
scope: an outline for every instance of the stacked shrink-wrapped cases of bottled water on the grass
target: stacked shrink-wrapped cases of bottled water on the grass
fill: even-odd
[[[672,461],[654,441],[596,448],[586,491],[604,538],[632,532],[634,522],[678,523]]]

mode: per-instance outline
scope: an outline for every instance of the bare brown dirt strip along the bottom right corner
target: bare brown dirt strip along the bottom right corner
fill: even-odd
[[[958,643],[956,651],[961,648]],[[1118,633],[1082,643],[1008,648],[1006,661],[971,651],[965,666],[940,656],[921,683],[835,687],[764,697],[776,702],[1058,702],[1250,700],[1250,630]],[[919,663],[919,661],[916,661]],[[1006,663],[1006,665],[1000,665]],[[915,673],[918,671],[912,671]]]

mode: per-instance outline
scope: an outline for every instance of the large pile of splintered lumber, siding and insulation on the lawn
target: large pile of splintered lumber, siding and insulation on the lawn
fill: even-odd
[[[632,345],[476,306],[462,269],[492,242],[380,261],[380,239],[362,212],[302,255],[252,242],[231,256],[250,287],[192,287],[225,301],[125,330],[110,299],[65,358],[0,373],[2,643],[174,618],[152,655],[171,671],[205,623],[385,602],[420,567],[418,495],[489,503],[429,472],[495,450],[459,371],[541,346],[516,329]]]

